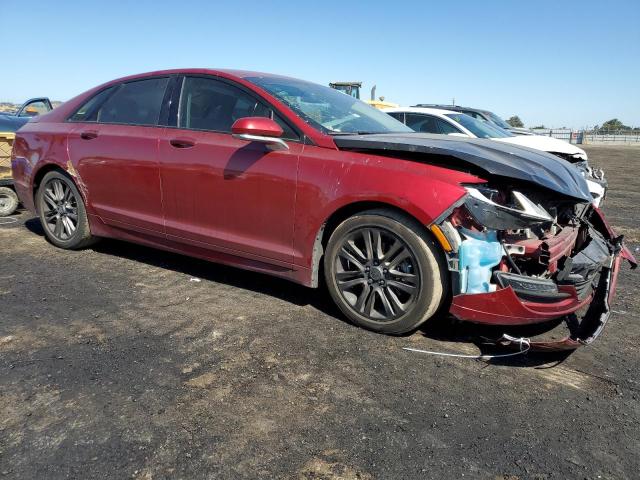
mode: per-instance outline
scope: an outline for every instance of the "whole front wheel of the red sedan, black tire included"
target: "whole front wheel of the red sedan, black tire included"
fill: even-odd
[[[394,256],[397,248],[403,250]],[[406,259],[397,264],[400,257]],[[352,323],[391,335],[418,328],[449,291],[439,245],[424,226],[393,210],[365,211],[338,225],[327,244],[324,272],[331,297]]]

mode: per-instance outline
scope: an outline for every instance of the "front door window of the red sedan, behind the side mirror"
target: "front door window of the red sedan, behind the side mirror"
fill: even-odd
[[[212,78],[186,77],[180,95],[178,127],[231,133],[239,118],[272,118],[282,138],[298,140],[296,132],[272,108],[240,88]]]

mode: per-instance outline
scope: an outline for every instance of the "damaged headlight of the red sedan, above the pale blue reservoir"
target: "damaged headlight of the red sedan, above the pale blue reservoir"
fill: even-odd
[[[511,201],[505,205],[498,203],[501,195],[497,190],[478,186],[465,188],[469,194],[465,200],[467,210],[480,225],[486,228],[514,230],[554,221],[554,218],[541,205],[536,205],[516,190],[511,191]]]

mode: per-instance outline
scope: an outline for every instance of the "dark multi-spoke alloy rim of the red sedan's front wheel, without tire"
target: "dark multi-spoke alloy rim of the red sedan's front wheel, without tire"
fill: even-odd
[[[360,315],[388,322],[408,312],[420,292],[420,271],[409,246],[377,227],[352,231],[335,258],[335,283]]]

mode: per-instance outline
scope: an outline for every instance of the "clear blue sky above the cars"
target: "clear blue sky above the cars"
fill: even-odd
[[[527,126],[640,126],[640,1],[2,0],[0,101],[161,68],[360,80]],[[7,28],[7,25],[12,25]],[[18,32],[16,35],[14,32]]]

